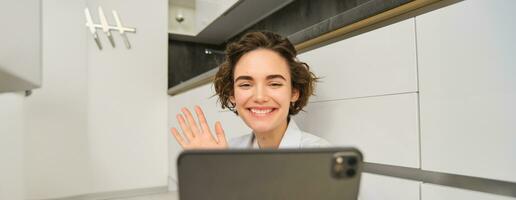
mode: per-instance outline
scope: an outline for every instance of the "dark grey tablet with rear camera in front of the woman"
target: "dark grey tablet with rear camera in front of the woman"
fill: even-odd
[[[179,155],[180,200],[355,200],[355,148],[195,150]]]

